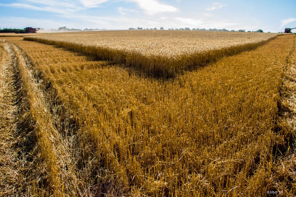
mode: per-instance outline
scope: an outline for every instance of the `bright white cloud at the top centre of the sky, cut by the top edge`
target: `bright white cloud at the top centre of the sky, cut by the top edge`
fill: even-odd
[[[178,9],[171,5],[162,4],[156,0],[128,0],[135,2],[141,9],[144,9],[146,14],[154,15],[161,12],[177,12]]]

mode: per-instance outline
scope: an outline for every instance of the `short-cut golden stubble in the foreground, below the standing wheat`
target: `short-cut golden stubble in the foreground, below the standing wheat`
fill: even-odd
[[[44,158],[59,161],[52,166],[65,195],[293,195],[295,159],[287,147],[295,131],[282,121],[279,92],[294,36],[168,80],[50,45],[13,42],[44,80],[54,122],[61,123],[53,136],[61,136],[67,157]],[[32,116],[42,117],[38,111]],[[40,124],[40,131],[48,128]],[[65,147],[49,144],[53,154]]]

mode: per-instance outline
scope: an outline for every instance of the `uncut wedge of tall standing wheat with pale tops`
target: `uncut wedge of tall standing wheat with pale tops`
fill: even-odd
[[[273,33],[202,31],[76,32],[25,37],[172,77],[223,56],[254,49],[276,37]]]

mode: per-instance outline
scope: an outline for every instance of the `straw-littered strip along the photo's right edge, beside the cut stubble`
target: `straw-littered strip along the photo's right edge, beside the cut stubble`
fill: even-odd
[[[296,37],[294,37],[296,42]],[[277,151],[278,155],[275,164],[272,166],[274,176],[278,177],[275,187],[285,186],[296,191],[296,45],[287,57],[287,67],[284,69],[283,84],[281,87],[281,118],[280,124],[285,126],[284,133],[287,146]],[[283,152],[284,151],[284,152]]]

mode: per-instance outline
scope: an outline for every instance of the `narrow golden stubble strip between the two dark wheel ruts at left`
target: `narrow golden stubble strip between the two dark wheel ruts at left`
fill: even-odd
[[[40,83],[33,75],[32,65],[28,63],[28,60],[16,45],[10,44],[10,46],[17,56],[22,91],[29,106],[29,125],[33,124],[33,132],[36,137],[34,149],[37,157],[34,158],[33,162],[36,164],[36,169],[39,168],[41,171],[33,170],[32,174],[36,178],[34,184],[38,188],[36,191],[33,190],[33,193],[39,194],[39,189],[41,188],[41,193],[46,195],[64,196],[59,178],[58,151],[56,151],[57,146],[55,144],[56,141],[59,141],[59,134],[54,127],[52,115],[49,113],[44,99],[44,92],[40,88]],[[42,181],[40,182],[40,180]],[[45,191],[43,190],[44,187],[46,188]]]

